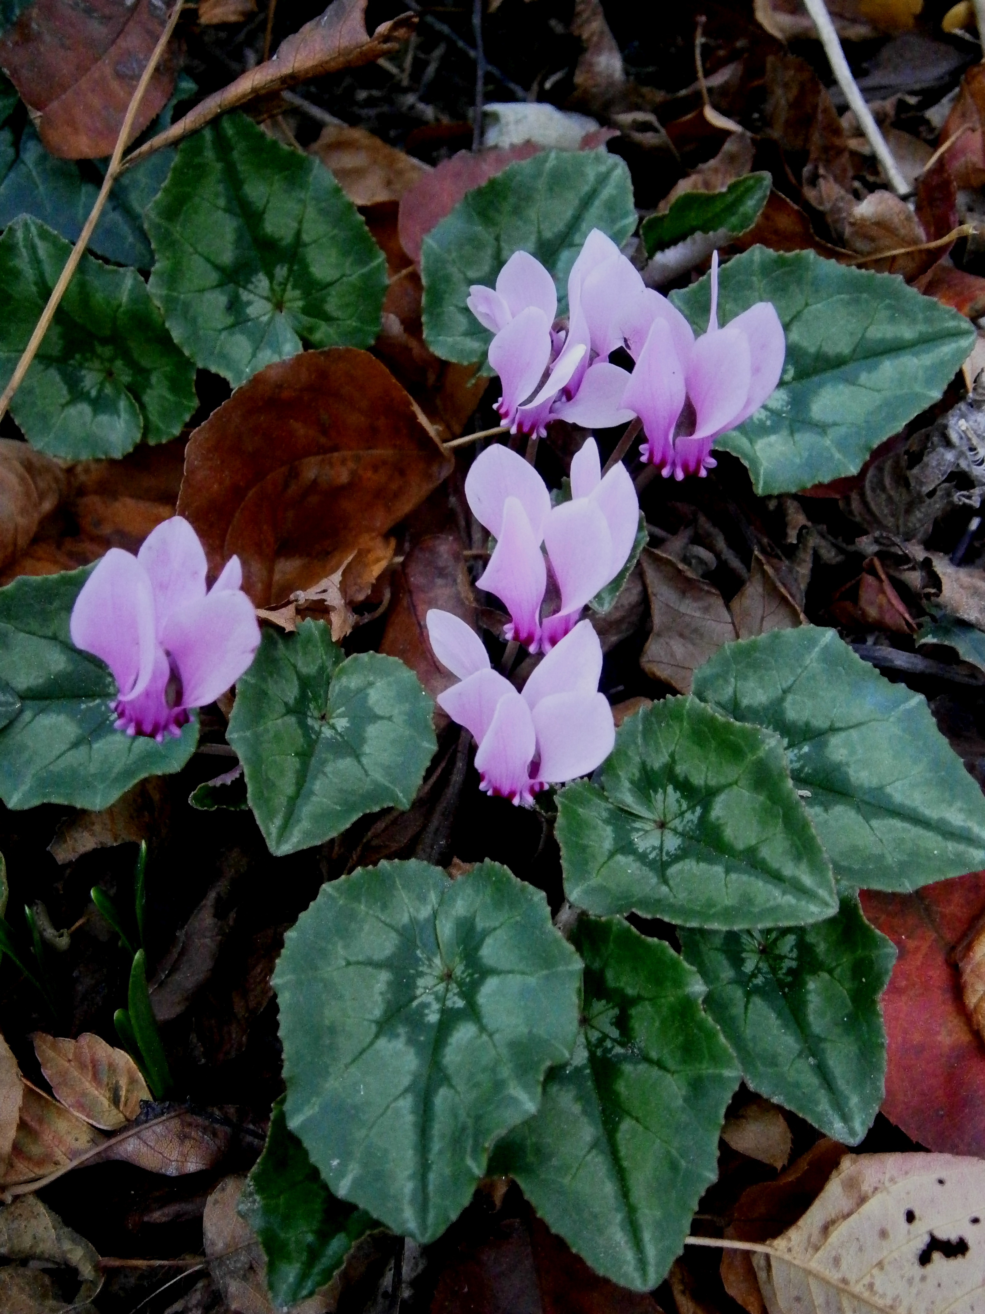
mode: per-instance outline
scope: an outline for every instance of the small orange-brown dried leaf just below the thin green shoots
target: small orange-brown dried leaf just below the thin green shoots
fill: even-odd
[[[32,1039],[55,1099],[93,1127],[118,1131],[141,1112],[141,1100],[151,1099],[130,1055],[92,1031],[77,1041],[35,1031]]]

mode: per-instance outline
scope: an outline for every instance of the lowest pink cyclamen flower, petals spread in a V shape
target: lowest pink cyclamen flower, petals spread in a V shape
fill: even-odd
[[[548,653],[521,694],[492,670],[479,636],[448,611],[428,611],[435,656],[458,683],[437,704],[478,744],[486,794],[529,807],[548,784],[587,775],[616,741],[612,710],[598,691],[602,645],[587,620]]]

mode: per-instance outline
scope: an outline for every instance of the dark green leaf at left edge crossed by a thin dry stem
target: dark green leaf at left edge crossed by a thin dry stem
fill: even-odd
[[[0,376],[13,373],[70,244],[33,218],[0,238]],[[134,269],[83,256],[11,402],[28,442],[67,460],[123,456],[175,438],[197,406],[194,368],[171,339]]]

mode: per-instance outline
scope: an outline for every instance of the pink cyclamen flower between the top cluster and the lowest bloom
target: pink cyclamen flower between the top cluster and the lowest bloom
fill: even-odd
[[[640,524],[633,481],[621,463],[603,478],[592,438],[571,461],[570,502],[552,507],[533,466],[499,445],[475,459],[465,497],[496,540],[477,586],[506,604],[507,639],[531,652],[548,652],[574,628],[582,607],[625,565]],[[541,620],[548,566],[559,598],[554,614]]]

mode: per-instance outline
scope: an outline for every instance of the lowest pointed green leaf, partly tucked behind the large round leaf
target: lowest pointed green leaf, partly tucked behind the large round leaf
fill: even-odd
[[[657,1286],[717,1173],[739,1070],[701,1010],[704,986],[658,940],[583,917],[582,1030],[540,1112],[492,1152],[552,1231],[623,1286]]]

